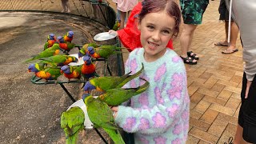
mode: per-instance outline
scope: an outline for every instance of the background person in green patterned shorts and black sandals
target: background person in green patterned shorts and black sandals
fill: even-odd
[[[209,0],[180,0],[182,18],[184,27],[180,37],[182,54],[180,55],[183,62],[190,65],[196,65],[198,55],[190,50],[194,30],[202,23],[202,14],[208,6]]]

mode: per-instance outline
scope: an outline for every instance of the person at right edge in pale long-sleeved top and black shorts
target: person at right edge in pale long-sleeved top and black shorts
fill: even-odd
[[[241,92],[242,105],[238,115],[234,144],[256,143],[256,1],[233,0],[232,11],[234,22],[240,30],[242,58],[245,62]]]

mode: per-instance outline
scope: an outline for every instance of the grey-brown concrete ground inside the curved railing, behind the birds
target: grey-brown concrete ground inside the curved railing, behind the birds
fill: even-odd
[[[65,135],[60,116],[73,102],[59,85],[35,85],[22,63],[43,50],[46,37],[74,31],[73,42],[79,45],[93,42],[93,37],[106,26],[74,15],[42,13],[0,13],[0,128],[2,143],[62,143]],[[114,44],[116,41],[105,42]],[[104,44],[98,43],[98,44]],[[71,50],[76,54],[78,50]],[[117,58],[110,59],[111,70],[117,74]],[[100,62],[97,67],[101,67]],[[98,72],[102,74],[101,71]],[[81,84],[66,84],[74,98],[81,93]],[[104,134],[106,137],[106,134]],[[82,142],[101,143],[94,131],[86,131]]]

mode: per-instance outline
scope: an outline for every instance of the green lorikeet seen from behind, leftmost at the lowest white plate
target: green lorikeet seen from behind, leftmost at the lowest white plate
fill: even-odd
[[[66,134],[66,144],[76,144],[78,133],[84,127],[85,114],[79,107],[72,107],[62,113],[61,127]]]

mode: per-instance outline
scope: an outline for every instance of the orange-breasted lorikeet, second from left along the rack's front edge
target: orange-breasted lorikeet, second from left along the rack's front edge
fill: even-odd
[[[61,73],[69,79],[71,78],[81,78],[81,66],[62,66]]]

